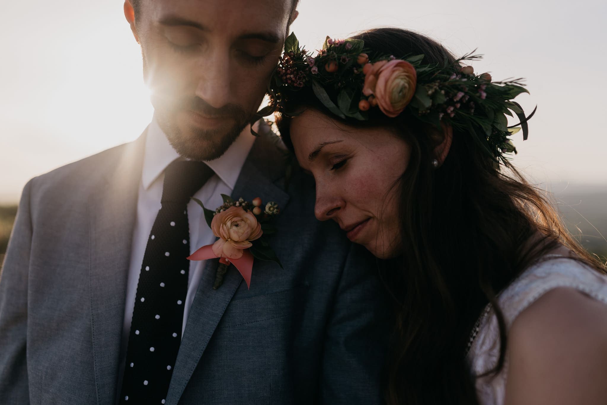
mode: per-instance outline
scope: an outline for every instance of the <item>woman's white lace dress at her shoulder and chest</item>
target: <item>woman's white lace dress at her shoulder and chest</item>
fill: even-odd
[[[575,288],[607,304],[607,276],[564,256],[549,254],[527,268],[498,296],[507,330],[517,316],[544,293],[558,287]],[[497,318],[487,308],[477,322],[476,336],[467,353],[472,373],[480,376],[492,369],[500,356]],[[474,332],[473,332],[474,335]],[[472,338],[471,338],[472,339]],[[476,392],[483,405],[501,405],[506,393],[508,356],[495,377],[476,378]]]

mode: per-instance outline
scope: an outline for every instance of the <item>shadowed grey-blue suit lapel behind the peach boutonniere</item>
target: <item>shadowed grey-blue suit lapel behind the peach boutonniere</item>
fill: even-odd
[[[284,155],[273,145],[276,141],[274,138],[279,139],[274,134],[261,135],[256,139],[240,171],[232,198],[243,197],[251,200],[260,197],[264,203],[270,201],[278,203],[281,209],[287,204],[289,199],[287,192],[275,184],[284,173]],[[167,404],[178,403],[232,296],[243,281],[240,273],[231,266],[223,285],[213,290],[218,262],[218,259],[206,262],[181,339],[171,385],[166,396]],[[251,283],[254,282],[255,268],[251,278]]]

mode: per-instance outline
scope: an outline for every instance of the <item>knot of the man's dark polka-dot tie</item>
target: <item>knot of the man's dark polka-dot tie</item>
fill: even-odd
[[[213,175],[213,170],[197,160],[175,160],[164,171],[161,203],[187,204]]]

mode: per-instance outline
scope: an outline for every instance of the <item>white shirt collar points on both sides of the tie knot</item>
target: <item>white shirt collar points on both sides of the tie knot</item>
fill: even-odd
[[[255,137],[251,134],[251,129],[247,125],[221,157],[205,161],[205,163],[213,169],[222,182],[233,190],[240,175],[240,169],[245,164],[254,141]],[[179,154],[169,143],[156,119],[152,118],[148,127],[143,157],[143,172],[141,174],[143,188],[147,190],[163,174],[166,166],[178,158],[180,158]]]

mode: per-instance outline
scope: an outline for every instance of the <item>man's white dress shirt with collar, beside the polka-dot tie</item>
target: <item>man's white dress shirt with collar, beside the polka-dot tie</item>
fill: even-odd
[[[227,194],[228,196],[232,194],[234,185],[236,185],[236,180],[240,175],[240,170],[251,150],[251,146],[253,146],[254,140],[255,137],[251,134],[249,126],[247,126],[222,157],[205,162],[213,169],[215,174],[212,175],[196,194],[194,194],[194,197],[202,201],[206,208],[215,209],[222,205],[223,199],[220,194]],[[148,127],[148,135],[146,137],[143,156],[143,172],[141,173],[141,182],[139,184],[139,195],[137,199],[137,222],[135,223],[133,232],[131,265],[129,267],[124,306],[124,326],[120,350],[118,392],[120,392],[124,373],[124,360],[126,358],[126,349],[129,341],[129,333],[131,331],[131,321],[133,318],[135,294],[137,293],[137,282],[139,281],[141,263],[143,262],[143,255],[146,250],[149,234],[152,231],[152,225],[154,225],[156,214],[158,214],[158,210],[160,209],[164,169],[177,158],[179,158],[179,155],[175,149],[172,148],[156,120],[153,119]],[[215,236],[205,221],[202,207],[194,201],[188,203],[188,223],[190,232],[190,254],[194,253],[198,248],[209,245],[215,241]],[[183,336],[183,331],[185,330],[189,308],[192,305],[192,301],[194,301],[194,295],[198,289],[198,282],[200,282],[204,264],[204,261],[191,261],[189,264],[188,294],[186,295],[185,306],[183,308],[181,336]]]

